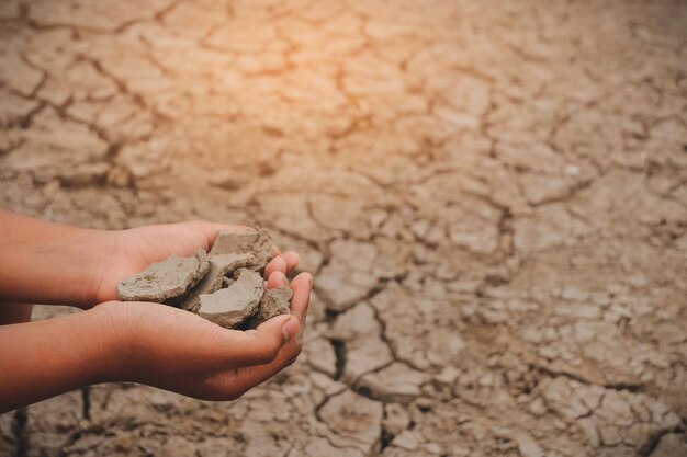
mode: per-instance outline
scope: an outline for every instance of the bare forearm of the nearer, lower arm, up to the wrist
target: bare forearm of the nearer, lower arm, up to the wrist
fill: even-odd
[[[110,380],[111,334],[95,310],[0,327],[0,413]]]

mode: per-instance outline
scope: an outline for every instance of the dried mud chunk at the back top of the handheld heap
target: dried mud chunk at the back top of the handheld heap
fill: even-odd
[[[266,229],[234,232],[230,230],[217,230],[210,255],[217,254],[245,254],[255,256],[248,266],[251,270],[262,270],[272,259],[272,238]]]

